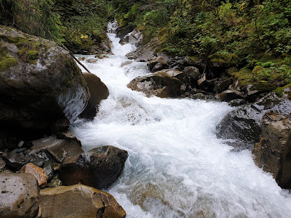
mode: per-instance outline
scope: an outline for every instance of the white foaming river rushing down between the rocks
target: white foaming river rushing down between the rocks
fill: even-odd
[[[146,98],[128,89],[133,78],[149,73],[146,63],[128,60],[134,46],[108,36],[115,55],[82,63],[110,95],[93,121],[77,120],[72,130],[84,150],[128,151],[123,174],[106,190],[127,217],[291,217],[291,194],[255,166],[249,150],[233,152],[215,136],[232,110],[227,103]]]

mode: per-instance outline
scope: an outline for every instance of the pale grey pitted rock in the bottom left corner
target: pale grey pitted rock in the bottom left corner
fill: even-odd
[[[39,187],[31,174],[0,173],[0,217],[36,217]]]

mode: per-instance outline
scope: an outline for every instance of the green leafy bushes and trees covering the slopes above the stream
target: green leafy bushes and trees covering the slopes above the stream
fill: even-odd
[[[140,29],[144,43],[158,37],[158,51],[236,67],[230,74],[241,85],[291,83],[289,0],[0,0],[0,24],[71,51],[102,43],[112,19]],[[26,61],[37,58],[37,46],[19,48]]]

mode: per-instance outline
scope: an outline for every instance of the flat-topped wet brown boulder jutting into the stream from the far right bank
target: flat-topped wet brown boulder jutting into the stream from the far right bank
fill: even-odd
[[[134,78],[127,87],[132,90],[142,91],[147,97],[151,95],[160,98],[178,97],[185,93],[187,87],[182,81],[176,78],[181,71],[162,70],[155,73],[147,74],[146,76],[138,76]]]

